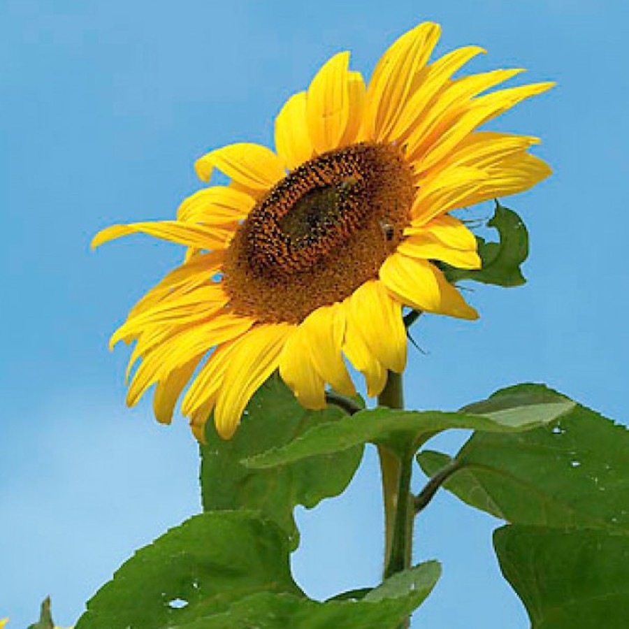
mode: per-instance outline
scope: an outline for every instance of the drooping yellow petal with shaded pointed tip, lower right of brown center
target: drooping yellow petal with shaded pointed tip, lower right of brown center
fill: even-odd
[[[476,310],[430,262],[394,253],[384,261],[379,275],[391,294],[405,305],[460,319],[478,318]]]

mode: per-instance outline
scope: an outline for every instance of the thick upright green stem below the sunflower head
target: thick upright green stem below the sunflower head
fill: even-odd
[[[402,375],[389,372],[386,386],[378,398],[379,406],[403,408]],[[384,578],[411,565],[413,496],[410,481],[414,444],[408,447],[378,447],[384,496]],[[408,626],[407,623],[403,627]]]

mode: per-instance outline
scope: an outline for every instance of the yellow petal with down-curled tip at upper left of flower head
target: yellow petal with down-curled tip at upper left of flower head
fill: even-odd
[[[212,170],[218,168],[234,182],[252,190],[268,190],[284,178],[284,164],[277,155],[259,144],[229,144],[211,151],[194,163],[196,173],[209,181]]]

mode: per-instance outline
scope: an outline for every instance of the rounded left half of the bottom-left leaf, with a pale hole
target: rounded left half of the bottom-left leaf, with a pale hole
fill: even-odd
[[[282,530],[251,512],[208,512],[126,561],[87,603],[76,629],[156,629],[222,611],[259,591],[301,595]],[[206,609],[207,611],[207,609]]]

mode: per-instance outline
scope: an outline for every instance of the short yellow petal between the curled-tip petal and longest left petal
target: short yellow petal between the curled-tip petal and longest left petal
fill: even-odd
[[[229,186],[212,186],[195,192],[177,210],[183,222],[221,225],[240,221],[254,207],[255,199]]]

